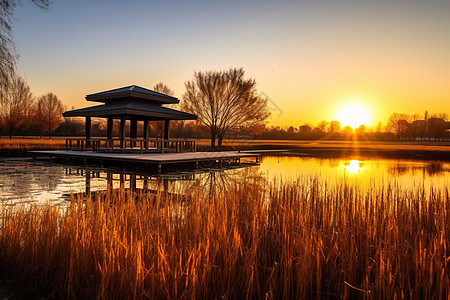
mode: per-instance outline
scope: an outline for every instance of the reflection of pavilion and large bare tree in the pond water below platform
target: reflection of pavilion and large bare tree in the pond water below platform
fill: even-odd
[[[233,183],[248,178],[263,179],[261,172],[251,166],[209,168],[195,172],[165,174],[76,166],[66,167],[65,175],[84,177],[83,191],[80,189],[78,192],[65,194],[67,200],[71,197],[97,199],[121,192],[130,193],[136,197],[158,193],[163,197],[183,197],[184,191],[192,191],[194,188],[199,188],[203,193],[211,195],[213,191],[219,192]]]

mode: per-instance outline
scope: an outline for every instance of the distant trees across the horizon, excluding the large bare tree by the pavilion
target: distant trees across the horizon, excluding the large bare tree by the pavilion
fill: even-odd
[[[155,89],[173,94],[164,84]],[[20,77],[8,86],[0,88],[0,135],[3,136],[84,136],[83,118],[64,118],[67,107],[54,94],[47,93],[36,97],[28,84]],[[142,122],[140,122],[142,123]],[[256,124],[256,125],[255,125]],[[113,123],[113,135],[119,135],[118,120]],[[252,126],[251,126],[252,125]],[[373,140],[448,140],[450,122],[447,114],[423,116],[393,113],[387,124],[378,123],[376,128],[364,125],[353,129],[341,127],[338,121],[320,121],[317,125],[304,124],[298,127],[265,126],[263,122],[247,126],[234,126],[223,136],[225,138],[245,139],[349,139],[353,137]],[[128,127],[128,126],[126,126]],[[93,118],[92,136],[106,136],[106,119]],[[150,122],[150,137],[162,136],[162,122]],[[138,124],[138,134],[142,136],[143,124]],[[129,128],[126,128],[129,132]],[[196,121],[171,121],[170,136],[173,138],[210,138],[208,126]]]

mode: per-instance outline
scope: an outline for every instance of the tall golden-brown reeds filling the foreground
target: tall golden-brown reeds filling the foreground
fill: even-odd
[[[247,180],[2,208],[0,266],[25,296],[446,298],[448,188]]]

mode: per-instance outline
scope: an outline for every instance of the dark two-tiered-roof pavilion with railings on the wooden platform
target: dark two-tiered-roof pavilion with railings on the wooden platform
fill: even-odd
[[[195,151],[195,141],[188,139],[170,139],[169,125],[171,120],[195,120],[196,115],[164,107],[165,104],[177,104],[175,97],[162,94],[136,85],[90,94],[87,101],[103,104],[66,111],[64,117],[84,117],[85,139],[67,139],[66,147],[78,150],[93,151],[133,151],[162,152],[174,149],[181,152],[188,148]],[[92,138],[91,118],[107,119],[107,136]],[[120,120],[119,137],[113,137],[113,122]],[[129,138],[126,137],[125,124],[130,122]],[[149,139],[149,122],[164,121],[163,136]],[[138,138],[138,122],[143,122],[143,137]],[[153,147],[149,145],[153,144]]]

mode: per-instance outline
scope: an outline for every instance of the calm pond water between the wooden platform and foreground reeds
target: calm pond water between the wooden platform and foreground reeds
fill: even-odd
[[[334,183],[345,180],[362,187],[395,182],[403,189],[450,186],[450,163],[390,159],[337,159],[294,156],[264,157],[259,166],[229,170],[199,170],[165,174],[119,173],[98,168],[79,168],[34,160],[0,162],[0,201],[4,205],[64,205],[71,194],[90,193],[124,187],[132,190],[176,192],[180,187],[201,185],[205,193],[226,188],[243,178],[266,183],[295,182],[298,178],[317,177]]]

